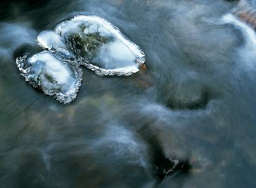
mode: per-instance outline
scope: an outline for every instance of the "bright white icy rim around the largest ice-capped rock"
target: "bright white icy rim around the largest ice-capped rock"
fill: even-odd
[[[117,38],[120,39],[120,41],[122,41],[122,43],[124,43],[131,51],[136,51],[139,54],[139,57],[138,59],[136,59],[136,62],[135,62],[137,63],[137,69],[133,69],[133,70],[128,69],[128,71],[126,70],[126,67],[115,68],[115,69],[100,68],[100,67],[97,67],[96,65],[91,64],[89,60],[83,57],[80,57],[81,65],[85,65],[85,67],[89,68],[90,70],[93,70],[97,75],[100,75],[100,76],[114,76],[114,75],[130,76],[133,73],[139,72],[141,65],[144,64],[146,61],[144,52],[142,51],[142,49],[140,49],[140,47],[137,44],[133,43],[132,41],[130,41],[130,39],[128,39],[125,35],[123,35],[123,33],[119,30],[119,28],[115,27],[115,25],[110,23],[108,20],[105,20],[104,18],[97,17],[95,15],[76,15],[70,20],[59,23],[56,26],[55,31],[59,33],[60,36],[62,36],[61,27],[64,25],[67,25],[68,22],[75,22],[76,20],[84,21],[84,22],[93,21],[93,22],[99,23],[99,25],[104,25],[104,27],[106,27],[111,33],[117,36]],[[68,46],[71,47],[70,44],[68,44]]]

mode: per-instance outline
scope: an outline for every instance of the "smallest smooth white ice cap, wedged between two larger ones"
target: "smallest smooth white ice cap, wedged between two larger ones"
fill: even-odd
[[[75,59],[72,49],[65,44],[64,39],[54,30],[41,31],[38,35],[38,43],[49,51],[56,51],[67,59]]]

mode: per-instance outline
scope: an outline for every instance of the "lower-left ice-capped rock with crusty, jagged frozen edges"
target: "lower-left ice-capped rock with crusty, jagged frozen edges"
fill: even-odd
[[[81,86],[81,68],[72,66],[51,52],[39,52],[29,58],[19,57],[16,64],[26,81],[65,104],[75,99]]]

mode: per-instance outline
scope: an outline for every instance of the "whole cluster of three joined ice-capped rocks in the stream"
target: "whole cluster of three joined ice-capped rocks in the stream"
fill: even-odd
[[[19,57],[21,75],[45,94],[65,104],[75,99],[85,65],[101,76],[129,76],[143,67],[144,52],[110,22],[96,16],[76,16],[45,30],[37,38],[47,51]]]

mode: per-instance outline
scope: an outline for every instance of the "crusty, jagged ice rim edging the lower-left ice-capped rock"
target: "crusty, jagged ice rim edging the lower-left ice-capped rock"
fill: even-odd
[[[30,83],[34,88],[39,88],[41,89],[41,87],[39,86],[39,84],[35,84],[33,81],[31,81],[30,79],[28,79],[28,74],[27,74],[27,68],[30,66],[27,63],[28,57],[27,55],[23,56],[23,57],[18,57],[16,59],[16,65],[20,70],[20,75],[22,75],[25,78],[25,81],[28,81],[28,83]],[[70,65],[70,63],[69,63]],[[52,92],[52,93],[48,93],[47,95],[49,96],[54,96],[54,98],[56,100],[59,100],[60,103],[64,103],[64,104],[69,104],[70,102],[72,102],[74,99],[76,99],[78,90],[81,86],[81,81],[83,80],[83,71],[80,67],[77,66],[70,66],[71,68],[73,68],[73,70],[75,70],[75,72],[77,72],[78,74],[78,81],[76,83],[76,86],[74,89],[72,89],[71,91],[66,92],[65,94],[62,93],[58,93],[58,92]]]

